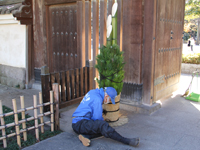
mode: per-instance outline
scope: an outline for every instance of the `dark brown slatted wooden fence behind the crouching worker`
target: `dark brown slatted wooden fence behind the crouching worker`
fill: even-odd
[[[49,92],[58,84],[59,108],[79,103],[84,95],[92,89],[93,67],[82,67],[60,72],[41,74],[42,98],[49,101]],[[49,111],[49,107],[44,107]]]

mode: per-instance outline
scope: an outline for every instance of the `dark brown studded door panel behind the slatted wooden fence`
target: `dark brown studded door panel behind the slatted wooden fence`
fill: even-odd
[[[48,28],[50,72],[80,67],[77,53],[76,3],[50,5]]]

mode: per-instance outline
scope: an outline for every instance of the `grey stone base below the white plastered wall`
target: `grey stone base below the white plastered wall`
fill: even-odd
[[[25,88],[26,69],[0,64],[0,84]]]

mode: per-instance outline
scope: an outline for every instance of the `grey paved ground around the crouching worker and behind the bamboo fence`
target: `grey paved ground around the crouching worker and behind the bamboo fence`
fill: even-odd
[[[104,137],[94,139],[90,147],[84,147],[71,128],[71,115],[76,109],[75,105],[61,110],[60,126],[63,133],[24,150],[199,150],[200,104],[180,96],[189,85],[190,79],[191,75],[182,74],[180,89],[168,98],[158,101],[162,107],[150,115],[136,114],[130,109],[121,110],[121,113],[128,117],[128,123],[115,129],[125,137],[140,137],[140,145],[137,148]],[[8,88],[5,90],[7,93],[4,93],[2,88],[8,87],[0,85],[0,99],[4,99],[3,104],[7,106],[10,105],[13,94],[17,97],[23,94],[29,100],[31,96],[27,93],[32,95],[38,92],[14,89],[12,93]]]

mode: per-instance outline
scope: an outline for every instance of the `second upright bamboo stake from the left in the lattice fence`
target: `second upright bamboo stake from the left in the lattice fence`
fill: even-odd
[[[16,100],[12,99],[13,103],[13,110],[14,110],[14,117],[15,117],[15,129],[16,129],[16,134],[17,134],[17,144],[19,147],[21,147],[21,138],[20,138],[20,132],[19,132],[19,122],[18,122],[18,115],[17,115],[17,104]]]

